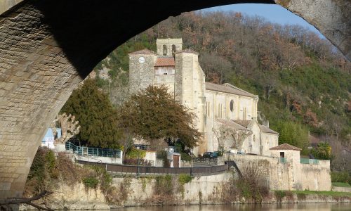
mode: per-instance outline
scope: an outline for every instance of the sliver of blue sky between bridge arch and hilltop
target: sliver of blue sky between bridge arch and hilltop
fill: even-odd
[[[237,11],[250,16],[262,16],[272,23],[281,25],[301,25],[307,27],[308,30],[316,32],[319,37],[324,36],[312,25],[307,23],[303,18],[288,11],[286,8],[277,4],[232,4],[227,6],[216,6],[206,8],[203,11]]]

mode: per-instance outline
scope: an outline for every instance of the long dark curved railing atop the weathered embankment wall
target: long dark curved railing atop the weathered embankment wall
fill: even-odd
[[[128,173],[128,174],[190,174],[190,175],[211,175],[221,174],[228,170],[228,163],[225,165],[211,166],[211,167],[148,167],[148,166],[126,166],[114,165],[108,163],[87,162],[77,160],[84,165],[96,165],[105,168],[108,172],[114,173]]]

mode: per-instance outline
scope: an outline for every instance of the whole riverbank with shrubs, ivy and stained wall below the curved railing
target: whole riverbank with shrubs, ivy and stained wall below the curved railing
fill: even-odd
[[[29,198],[55,210],[108,210],[111,207],[154,205],[218,205],[279,203],[350,203],[351,193],[272,191],[262,168],[241,167],[206,176],[190,174],[116,174],[95,165],[77,165],[65,153],[42,149],[34,158],[25,186]],[[323,187],[326,189],[325,187]],[[32,209],[21,206],[20,210]]]

